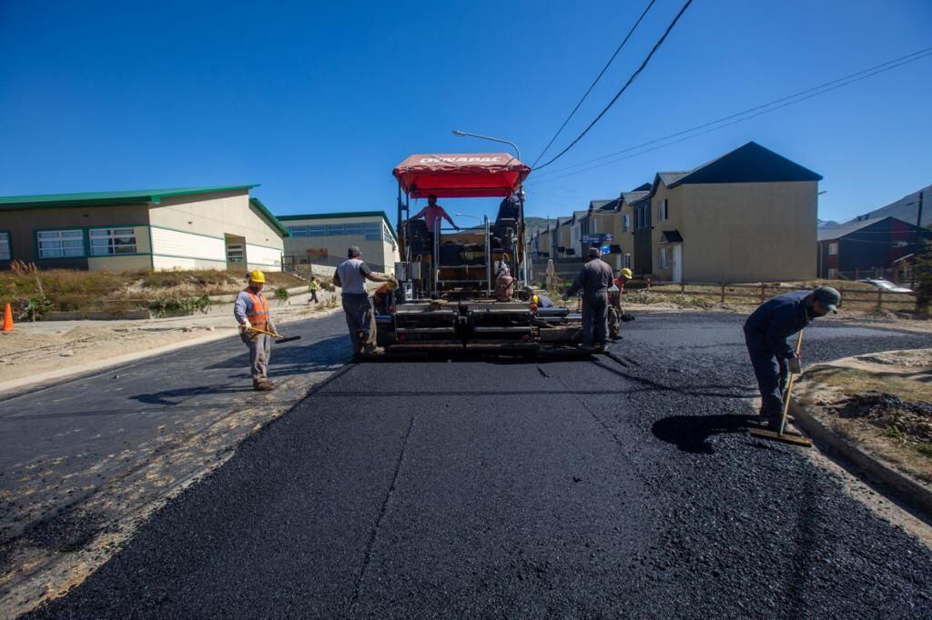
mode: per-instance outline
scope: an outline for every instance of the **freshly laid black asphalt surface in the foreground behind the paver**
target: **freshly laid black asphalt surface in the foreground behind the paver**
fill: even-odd
[[[932,553],[747,436],[733,316],[550,363],[349,367],[36,616],[928,617]],[[810,330],[807,362],[930,346]]]

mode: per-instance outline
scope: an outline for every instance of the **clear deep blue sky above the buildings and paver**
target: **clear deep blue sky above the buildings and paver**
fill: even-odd
[[[646,4],[0,2],[0,195],[260,182],[278,214],[391,214],[405,156],[499,150],[453,128],[533,161]],[[680,5],[657,0],[551,154]],[[927,0],[694,0],[550,169],[929,47],[929,23]],[[532,173],[528,214],[584,209],[753,140],[825,177],[820,217],[850,218],[932,182],[930,78],[926,58],[610,166]]]

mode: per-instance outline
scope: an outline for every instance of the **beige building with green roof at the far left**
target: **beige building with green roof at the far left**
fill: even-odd
[[[280,271],[288,230],[254,187],[0,197],[0,268]]]

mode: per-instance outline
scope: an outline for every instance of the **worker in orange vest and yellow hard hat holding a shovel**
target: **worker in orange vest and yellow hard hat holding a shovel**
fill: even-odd
[[[277,333],[268,313],[268,300],[262,294],[266,275],[254,269],[249,272],[249,286],[240,290],[233,305],[233,316],[240,324],[240,338],[249,347],[249,366],[253,389],[268,392],[274,384],[268,381],[268,358],[272,354],[272,338]]]

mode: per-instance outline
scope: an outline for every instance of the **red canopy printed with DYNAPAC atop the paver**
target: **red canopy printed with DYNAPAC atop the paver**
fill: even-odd
[[[530,168],[507,153],[411,155],[391,171],[413,198],[512,195]]]

